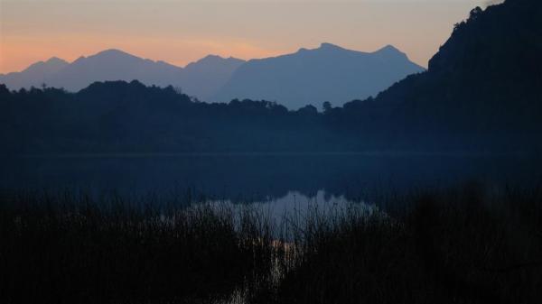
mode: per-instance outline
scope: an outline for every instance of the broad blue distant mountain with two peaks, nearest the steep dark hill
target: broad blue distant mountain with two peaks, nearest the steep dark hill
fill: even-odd
[[[344,102],[377,95],[406,75],[424,70],[392,46],[367,53],[322,43],[318,49],[249,60],[212,98],[275,100],[288,108]]]

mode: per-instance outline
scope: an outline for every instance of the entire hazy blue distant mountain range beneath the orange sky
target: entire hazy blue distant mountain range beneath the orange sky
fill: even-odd
[[[368,53],[322,43],[314,50],[260,60],[210,55],[184,68],[107,50],[71,63],[58,58],[41,61],[21,72],[0,75],[0,83],[11,89],[46,84],[79,91],[95,81],[137,79],[145,85],[172,85],[203,101],[265,99],[296,109],[324,101],[341,106],[352,99],[375,96],[423,70],[393,46]]]

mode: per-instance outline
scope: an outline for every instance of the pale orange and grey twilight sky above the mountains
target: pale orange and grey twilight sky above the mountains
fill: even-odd
[[[0,73],[119,49],[184,66],[208,54],[272,57],[330,42],[392,44],[416,63],[491,0],[0,0]]]

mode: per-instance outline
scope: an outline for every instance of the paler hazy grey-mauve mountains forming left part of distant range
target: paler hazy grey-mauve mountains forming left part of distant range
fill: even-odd
[[[33,64],[19,73],[0,75],[8,88],[49,87],[79,91],[95,81],[137,79],[146,85],[181,88],[194,97],[206,99],[228,81],[244,60],[208,56],[184,69],[164,61],[145,60],[125,51],[100,51],[71,63],[57,58]]]

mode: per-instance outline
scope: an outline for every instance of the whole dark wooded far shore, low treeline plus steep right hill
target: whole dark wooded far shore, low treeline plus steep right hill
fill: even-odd
[[[137,81],[78,93],[3,86],[0,98],[3,152],[536,151],[542,2],[472,10],[427,71],[321,113],[266,101],[201,103]]]

